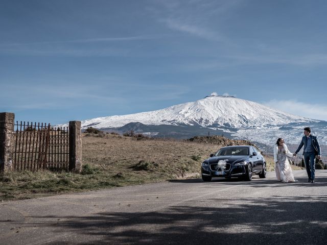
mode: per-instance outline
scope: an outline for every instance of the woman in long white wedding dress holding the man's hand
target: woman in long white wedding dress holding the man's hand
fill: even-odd
[[[293,157],[293,154],[288,150],[284,139],[278,138],[274,146],[275,173],[277,180],[283,183],[295,182],[287,156]]]

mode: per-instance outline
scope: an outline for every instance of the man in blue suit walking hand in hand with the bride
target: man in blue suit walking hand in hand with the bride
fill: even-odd
[[[318,159],[320,159],[320,145],[318,143],[317,137],[311,135],[311,129],[309,127],[305,128],[304,134],[305,136],[302,137],[301,143],[293,155],[296,156],[296,154],[301,150],[302,146],[305,146],[303,148],[303,156],[305,158],[305,164],[309,178],[308,182],[315,183],[315,161],[316,156]]]

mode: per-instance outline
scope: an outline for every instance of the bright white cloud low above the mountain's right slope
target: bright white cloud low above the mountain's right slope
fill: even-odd
[[[294,115],[327,121],[327,106],[324,105],[307,104],[295,100],[272,100],[263,104]]]

